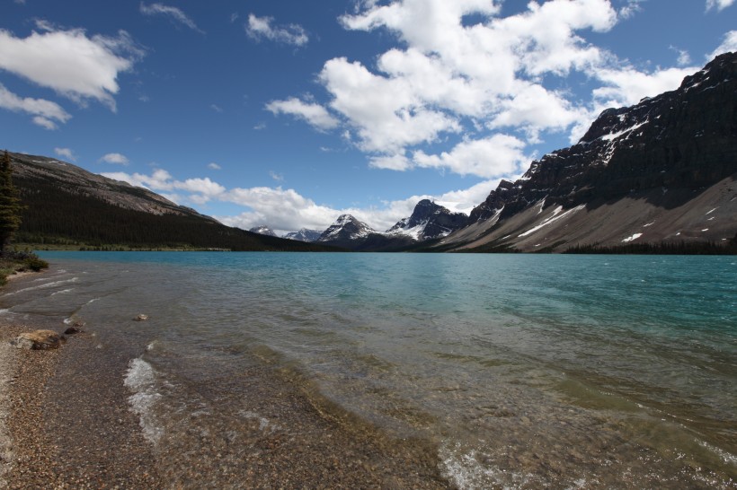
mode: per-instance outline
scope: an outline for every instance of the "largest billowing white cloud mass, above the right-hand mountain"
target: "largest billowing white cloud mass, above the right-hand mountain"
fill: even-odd
[[[267,109],[321,130],[341,130],[376,168],[432,166],[486,179],[498,175],[495,155],[511,158],[508,168],[516,169],[525,146],[540,143],[543,135],[563,133],[574,141],[601,109],[673,90],[695,69],[686,66],[684,52],[679,68],[644,71],[585,39],[637,13],[641,0],[622,1],[618,10],[610,0],[529,2],[508,16],[501,5],[358,2],[353,13],[340,17],[342,26],[388,31],[401,45],[379,53],[374,66],[345,57],[325,61],[318,82],[327,101],[307,105],[319,108],[327,124],[298,107]],[[572,73],[594,86],[588,100],[560,89]],[[502,145],[502,153],[474,151],[512,141],[506,138],[514,144]],[[448,144],[456,148],[448,150]]]

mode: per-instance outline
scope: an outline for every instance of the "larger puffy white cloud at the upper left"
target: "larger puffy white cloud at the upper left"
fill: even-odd
[[[37,22],[37,27],[44,32],[24,39],[0,30],[0,69],[73,101],[93,99],[114,110],[118,74],[143,56],[128,33],[88,38],[83,30],[57,31],[48,22]]]

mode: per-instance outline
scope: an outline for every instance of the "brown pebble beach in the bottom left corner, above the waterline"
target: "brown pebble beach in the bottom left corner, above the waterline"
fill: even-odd
[[[56,350],[11,346],[34,329],[0,325],[0,488],[163,487],[125,389],[101,396],[59,375],[70,361],[87,357],[93,337],[69,337]]]

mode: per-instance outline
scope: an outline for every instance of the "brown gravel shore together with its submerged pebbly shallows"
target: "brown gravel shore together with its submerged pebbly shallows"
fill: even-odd
[[[98,337],[95,326],[67,336],[58,349],[11,345],[37,328],[62,332],[66,326],[0,321],[0,489],[187,488],[212,481],[250,488],[452,487],[430,443],[383,433],[333,406],[299,373],[268,365],[241,374],[253,383],[253,398],[276,407],[268,423],[246,416],[253,427],[241,442],[250,448],[245,456],[229,453],[222,438],[151,444],[124,384],[138,346],[111,353],[109,338]],[[182,462],[182,454],[191,453],[199,464]],[[218,461],[230,474],[222,474]]]

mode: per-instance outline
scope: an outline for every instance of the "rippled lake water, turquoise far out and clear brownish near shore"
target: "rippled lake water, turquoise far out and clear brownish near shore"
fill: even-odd
[[[142,343],[120,382],[154,445],[182,430],[173,411],[224,434],[226,415],[260,416],[236,382],[200,395],[277,363],[431,443],[458,487],[735,487],[737,258],[40,255],[52,270],[14,281],[0,309]]]

